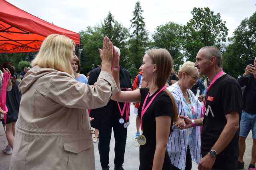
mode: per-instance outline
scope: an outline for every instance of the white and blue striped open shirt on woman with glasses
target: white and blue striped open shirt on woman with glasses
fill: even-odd
[[[169,86],[167,88],[169,90],[176,102],[176,105],[179,110],[179,114],[183,116],[188,116],[188,113],[185,109],[186,103],[183,101],[183,94],[180,90],[180,86],[178,85],[178,82],[175,84],[172,84],[172,86]],[[189,95],[192,97],[192,100],[194,100],[195,103],[195,119],[201,118],[201,103],[196,98],[196,96],[193,94],[191,90],[188,90]],[[186,152],[187,148],[189,146],[191,158],[194,162],[197,164],[201,160],[201,130],[200,126],[197,127],[191,127],[192,133],[191,138],[192,140],[188,140],[188,129],[179,129],[175,125],[172,126],[172,132],[168,141],[167,145],[167,151],[170,155],[171,162],[174,166],[179,168],[180,170],[185,169],[186,164]]]

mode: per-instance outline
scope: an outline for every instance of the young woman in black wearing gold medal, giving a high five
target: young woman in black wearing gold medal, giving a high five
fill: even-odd
[[[117,60],[116,57],[112,63],[112,75],[120,88]],[[165,87],[172,66],[172,57],[166,49],[151,49],[144,55],[140,66],[148,87],[120,91],[112,96],[112,100],[119,102],[141,102],[138,115],[143,133],[137,139],[140,144],[140,170],[172,169],[166,147],[172,123],[179,119],[175,100]]]

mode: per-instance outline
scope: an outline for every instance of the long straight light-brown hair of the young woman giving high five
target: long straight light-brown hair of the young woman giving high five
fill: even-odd
[[[156,64],[156,80],[155,83],[159,88],[165,86],[167,79],[170,77],[172,67],[173,67],[173,60],[172,56],[166,49],[151,49],[147,51],[148,56],[152,60],[153,64]],[[178,109],[175,103],[175,100],[172,94],[168,90],[164,90],[170,96],[172,100],[172,107],[174,112],[173,120],[174,122],[178,121],[179,114]]]

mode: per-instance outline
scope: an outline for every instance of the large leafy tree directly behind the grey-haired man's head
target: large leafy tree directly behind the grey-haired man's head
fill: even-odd
[[[193,18],[184,25],[183,48],[187,60],[195,61],[200,48],[226,41],[228,28],[220,13],[214,14],[209,8],[194,8],[191,13]]]

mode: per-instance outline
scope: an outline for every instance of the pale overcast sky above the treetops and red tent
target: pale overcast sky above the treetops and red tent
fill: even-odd
[[[114,19],[130,27],[137,0],[7,0],[18,8],[59,27],[74,32],[100,24],[108,11]],[[173,21],[185,25],[194,7],[209,7],[226,21],[228,37],[246,17],[256,11],[255,0],[140,0],[146,29],[153,33],[158,25]]]

